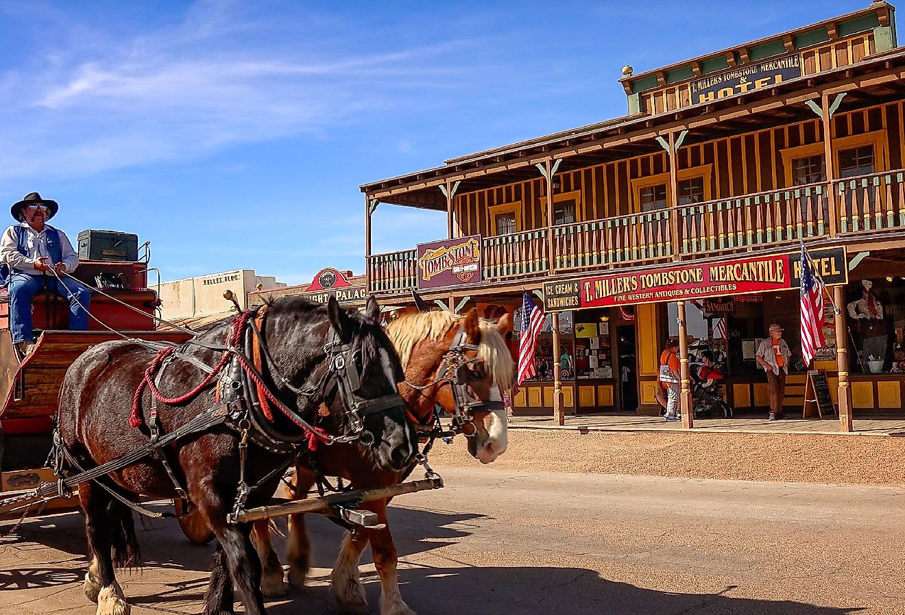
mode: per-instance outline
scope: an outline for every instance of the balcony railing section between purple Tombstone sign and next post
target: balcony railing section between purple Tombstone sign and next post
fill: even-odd
[[[484,279],[525,278],[548,270],[547,229],[485,237]]]

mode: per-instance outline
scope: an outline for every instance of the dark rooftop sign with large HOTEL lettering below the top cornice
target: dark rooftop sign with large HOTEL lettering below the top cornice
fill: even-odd
[[[786,55],[691,81],[691,104],[725,99],[801,77],[801,58]]]

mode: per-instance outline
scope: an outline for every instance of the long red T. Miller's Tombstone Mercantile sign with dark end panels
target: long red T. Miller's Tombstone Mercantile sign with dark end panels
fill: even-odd
[[[825,284],[848,281],[842,248],[814,251],[816,273]],[[544,311],[626,306],[801,287],[800,254],[666,267],[544,284]]]

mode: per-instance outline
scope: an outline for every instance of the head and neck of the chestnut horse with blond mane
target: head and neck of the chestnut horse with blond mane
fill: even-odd
[[[512,385],[514,362],[505,331],[510,317],[426,312],[397,318],[387,329],[405,366],[401,392],[414,419],[429,425],[439,404],[468,438],[468,450],[490,463],[507,447],[506,411],[500,391]],[[414,385],[414,386],[413,386]],[[457,425],[458,422],[458,425]]]

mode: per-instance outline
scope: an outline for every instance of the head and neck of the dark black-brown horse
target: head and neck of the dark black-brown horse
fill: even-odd
[[[326,306],[309,305],[322,317],[307,323],[300,301],[274,301],[265,320],[273,362],[291,374],[296,406],[319,406],[319,426],[355,440],[377,466],[405,468],[415,452],[414,429],[396,386],[404,380],[402,365],[377,322],[376,300],[370,298],[362,314],[331,297]]]

